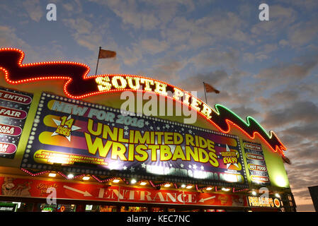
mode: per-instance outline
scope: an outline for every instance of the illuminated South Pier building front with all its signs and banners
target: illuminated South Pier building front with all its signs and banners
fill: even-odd
[[[152,78],[0,49],[0,203],[18,211],[295,211],[285,146]]]

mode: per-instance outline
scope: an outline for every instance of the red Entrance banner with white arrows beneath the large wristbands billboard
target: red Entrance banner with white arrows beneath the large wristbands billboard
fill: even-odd
[[[61,198],[120,203],[157,203],[195,206],[247,206],[246,196],[194,191],[142,189],[130,186],[53,182],[0,177],[0,196]]]

